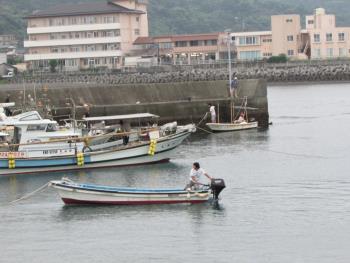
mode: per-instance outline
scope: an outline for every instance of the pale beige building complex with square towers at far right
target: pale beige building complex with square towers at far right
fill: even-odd
[[[318,8],[306,16],[271,17],[271,31],[232,33],[239,60],[261,60],[285,54],[290,59],[330,59],[350,56],[350,27],[337,27],[335,15]]]

